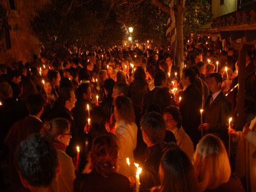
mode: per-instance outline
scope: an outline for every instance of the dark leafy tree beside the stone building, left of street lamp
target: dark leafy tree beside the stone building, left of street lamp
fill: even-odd
[[[51,0],[36,12],[30,26],[48,57],[64,59],[69,52],[121,42],[121,24],[108,11],[101,0]],[[106,41],[106,35],[114,36],[116,41]]]

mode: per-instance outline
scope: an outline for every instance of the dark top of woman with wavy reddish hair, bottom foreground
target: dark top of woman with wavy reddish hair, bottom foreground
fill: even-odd
[[[129,192],[130,182],[127,177],[118,173],[112,173],[109,177],[103,177],[93,170],[89,174],[81,174],[76,178],[74,191]]]

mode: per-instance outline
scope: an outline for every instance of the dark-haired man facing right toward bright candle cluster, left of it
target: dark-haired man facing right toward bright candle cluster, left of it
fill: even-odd
[[[158,72],[155,73],[154,77],[154,89],[151,91],[148,91],[143,95],[142,99],[142,114],[144,115],[146,108],[153,102],[153,98],[155,95],[155,92],[161,88],[161,87],[166,87],[167,86],[167,78],[166,78],[166,73],[163,72],[162,70],[159,70]]]

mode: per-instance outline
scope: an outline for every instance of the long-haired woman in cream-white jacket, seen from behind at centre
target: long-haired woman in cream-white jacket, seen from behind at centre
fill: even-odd
[[[116,120],[114,135],[117,136],[119,147],[118,164],[119,172],[123,176],[133,176],[134,156],[133,151],[137,145],[138,128],[135,122],[133,104],[128,97],[119,96],[114,100],[114,117]],[[130,159],[131,166],[127,165],[126,158]],[[130,170],[131,168],[131,170]]]

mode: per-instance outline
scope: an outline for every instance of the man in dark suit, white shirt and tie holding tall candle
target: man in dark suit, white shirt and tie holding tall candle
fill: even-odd
[[[209,89],[212,94],[209,95],[204,108],[204,122],[199,126],[199,130],[207,130],[208,133],[214,133],[223,141],[228,136],[228,123],[231,117],[231,104],[221,90],[222,77],[218,73],[210,74]]]

